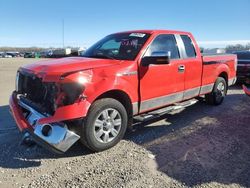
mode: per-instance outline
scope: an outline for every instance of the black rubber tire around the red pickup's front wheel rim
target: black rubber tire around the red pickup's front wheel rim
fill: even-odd
[[[106,134],[113,136],[113,133],[112,134],[111,134],[111,132],[107,133],[109,130],[104,130],[104,128],[105,128],[104,126],[108,126],[108,125],[102,124],[102,128],[100,128],[99,130],[102,129],[103,132],[104,131],[106,131],[106,132],[103,133],[104,134],[103,137],[101,136],[101,137],[97,138],[96,135],[98,134],[97,133],[98,130],[96,130],[96,128],[98,128],[98,127],[96,127],[95,125],[96,125],[97,121],[99,120],[99,118],[104,113],[104,111],[109,113],[108,110],[114,110],[114,111],[118,112],[119,116],[118,115],[117,116],[121,120],[121,123],[120,123],[121,126],[120,126],[119,131],[117,131],[118,132],[117,136],[110,138],[113,140],[111,140],[110,142],[107,142],[107,143],[103,143],[103,142],[101,142],[103,137],[105,137]],[[109,115],[108,117],[111,118],[111,116],[112,116],[112,114]],[[115,119],[115,118],[113,118],[113,119]],[[100,121],[106,122],[106,120],[100,120]],[[110,122],[111,122],[111,120],[109,120],[109,124],[112,124]],[[113,121],[113,128],[110,128],[110,129],[112,129],[112,130],[114,129],[114,126],[115,126],[114,124],[115,123]],[[128,124],[127,111],[126,111],[125,107],[119,101],[112,99],[112,98],[99,99],[99,100],[95,101],[92,104],[92,106],[90,107],[88,115],[87,115],[87,117],[82,125],[81,142],[94,152],[99,152],[99,151],[109,149],[109,148],[113,147],[114,145],[116,145],[124,137],[124,134],[127,130],[127,124]]]

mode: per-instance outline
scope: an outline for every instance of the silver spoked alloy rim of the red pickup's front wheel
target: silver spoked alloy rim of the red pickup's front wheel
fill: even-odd
[[[121,130],[122,118],[113,108],[103,110],[94,122],[94,136],[101,143],[109,143]]]

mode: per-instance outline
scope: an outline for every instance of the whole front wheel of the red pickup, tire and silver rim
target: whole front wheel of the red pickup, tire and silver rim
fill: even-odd
[[[127,111],[119,101],[99,99],[90,107],[81,129],[81,141],[92,151],[106,150],[123,138],[127,124]]]

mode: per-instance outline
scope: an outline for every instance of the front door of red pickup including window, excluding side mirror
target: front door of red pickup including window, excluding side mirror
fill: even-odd
[[[143,58],[166,54],[167,64],[143,64]],[[147,48],[139,64],[139,112],[150,111],[183,99],[184,70],[175,35],[160,34]]]

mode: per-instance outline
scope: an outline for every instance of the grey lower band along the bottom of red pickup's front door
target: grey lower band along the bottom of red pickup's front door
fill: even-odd
[[[160,106],[166,106],[183,100],[183,92],[178,92],[166,96],[161,96],[141,102],[140,112],[154,109]]]

